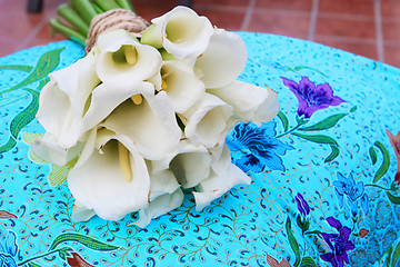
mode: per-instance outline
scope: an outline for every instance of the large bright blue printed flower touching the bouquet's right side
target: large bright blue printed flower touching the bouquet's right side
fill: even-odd
[[[276,138],[277,123],[269,121],[257,127],[254,123],[239,123],[227,137],[227,145],[231,151],[247,152],[236,160],[236,165],[243,171],[261,172],[266,169],[284,171],[280,156],[293,147]]]

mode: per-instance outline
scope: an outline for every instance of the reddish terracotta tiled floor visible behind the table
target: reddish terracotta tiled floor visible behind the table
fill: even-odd
[[[44,0],[41,13],[28,0],[0,0],[0,57],[51,41],[49,18],[66,0]],[[150,20],[178,0],[133,0]],[[400,68],[400,0],[193,0],[193,9],[219,28],[311,40]]]

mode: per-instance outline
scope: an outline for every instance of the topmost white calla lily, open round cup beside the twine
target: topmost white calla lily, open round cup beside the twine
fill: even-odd
[[[178,59],[200,56],[213,33],[209,19],[181,6],[151,22],[153,24],[142,32],[141,42],[156,48],[163,47]]]

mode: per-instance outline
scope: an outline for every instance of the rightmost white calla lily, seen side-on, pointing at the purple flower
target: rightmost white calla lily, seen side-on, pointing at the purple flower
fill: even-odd
[[[268,87],[233,81],[223,88],[209,89],[208,92],[232,106],[234,115],[244,122],[260,125],[272,120],[279,112],[277,92]]]

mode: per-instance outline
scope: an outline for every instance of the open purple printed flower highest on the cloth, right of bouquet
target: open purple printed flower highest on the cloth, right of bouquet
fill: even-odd
[[[281,77],[283,85],[287,86],[299,100],[298,115],[310,118],[313,112],[320,109],[338,106],[346,102],[343,99],[333,96],[333,90],[328,82],[317,85],[307,77],[301,77],[299,83]]]

